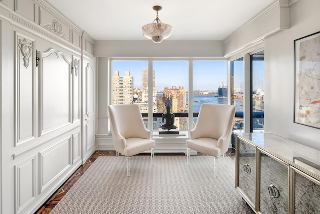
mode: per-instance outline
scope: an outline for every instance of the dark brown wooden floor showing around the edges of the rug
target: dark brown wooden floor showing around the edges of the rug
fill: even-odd
[[[234,149],[229,148],[226,156],[235,156]],[[150,154],[138,154],[150,155]],[[155,153],[155,156],[185,156],[184,153]],[[197,156],[204,156],[205,154],[197,153]],[[98,156],[115,156],[115,151],[95,151],[87,161],[81,165],[75,172],[63,183],[60,188],[51,195],[51,197],[35,212],[36,214],[49,213],[53,207],[61,200],[65,193],[72,187],[72,185],[81,177],[81,175],[90,167]]]

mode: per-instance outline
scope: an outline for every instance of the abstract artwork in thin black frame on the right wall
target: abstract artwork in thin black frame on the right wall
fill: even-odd
[[[320,128],[320,32],[293,42],[294,122]]]

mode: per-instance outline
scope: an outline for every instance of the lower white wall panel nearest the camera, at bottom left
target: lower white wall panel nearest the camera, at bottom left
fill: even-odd
[[[14,166],[15,212],[35,198],[35,157]]]

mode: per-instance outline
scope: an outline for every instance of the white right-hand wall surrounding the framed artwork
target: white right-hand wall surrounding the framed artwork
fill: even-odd
[[[300,0],[289,9],[290,29],[264,40],[264,130],[320,149],[320,129],[293,123],[293,40],[320,31],[320,1]]]

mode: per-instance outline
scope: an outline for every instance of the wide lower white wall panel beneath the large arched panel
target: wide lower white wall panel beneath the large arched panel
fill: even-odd
[[[71,137],[39,152],[39,193],[55,181],[71,164]]]

